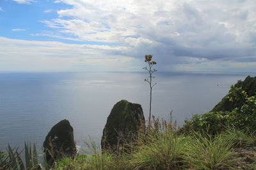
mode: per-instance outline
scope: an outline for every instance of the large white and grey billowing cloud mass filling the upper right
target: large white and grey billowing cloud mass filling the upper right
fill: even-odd
[[[73,8],[59,10],[59,17],[43,21],[45,25],[64,39],[71,35],[77,41],[117,43],[131,49],[123,55],[152,53],[163,63],[184,56],[210,61],[256,56],[253,1],[55,2]]]

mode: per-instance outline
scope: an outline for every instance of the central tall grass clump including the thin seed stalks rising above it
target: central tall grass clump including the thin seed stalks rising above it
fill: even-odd
[[[172,112],[170,116],[168,123],[152,117],[152,124],[148,124],[145,134],[131,147],[127,162],[132,169],[182,169],[186,141],[174,131]]]

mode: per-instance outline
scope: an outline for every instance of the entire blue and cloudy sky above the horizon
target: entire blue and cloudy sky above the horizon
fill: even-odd
[[[0,71],[256,71],[255,0],[0,0]]]

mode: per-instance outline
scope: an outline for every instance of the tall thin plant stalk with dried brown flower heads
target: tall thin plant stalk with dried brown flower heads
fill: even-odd
[[[143,67],[143,69],[147,70],[149,73],[149,79],[145,78],[145,81],[148,82],[149,87],[150,87],[150,102],[149,102],[149,124],[151,123],[151,104],[152,104],[152,88],[156,85],[156,83],[152,83],[152,79],[155,78],[152,76],[154,72],[156,72],[156,69],[153,69],[152,67],[156,64],[155,61],[152,61],[153,55],[145,55],[145,62],[147,62],[148,67]]]

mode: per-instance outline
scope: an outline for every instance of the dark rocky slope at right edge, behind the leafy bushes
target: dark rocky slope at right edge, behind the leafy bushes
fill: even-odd
[[[255,96],[256,93],[256,77],[247,76],[244,81],[237,81],[234,87],[241,87],[248,97]],[[221,99],[220,103],[218,103],[211,111],[232,111],[234,108],[241,108],[243,106],[243,102],[240,101],[230,101],[227,96]]]

